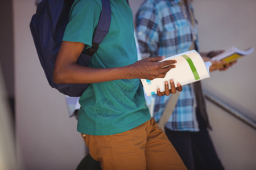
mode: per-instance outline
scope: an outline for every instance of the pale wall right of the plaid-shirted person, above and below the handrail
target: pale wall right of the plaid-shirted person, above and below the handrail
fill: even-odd
[[[236,46],[256,50],[255,0],[195,0],[201,51]],[[225,72],[211,74],[203,87],[237,111],[256,120],[256,53],[241,58]],[[207,102],[210,135],[226,169],[255,169],[256,131]]]

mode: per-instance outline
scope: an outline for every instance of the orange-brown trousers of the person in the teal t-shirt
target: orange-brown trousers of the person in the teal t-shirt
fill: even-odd
[[[187,169],[153,118],[123,133],[82,136],[104,170]]]

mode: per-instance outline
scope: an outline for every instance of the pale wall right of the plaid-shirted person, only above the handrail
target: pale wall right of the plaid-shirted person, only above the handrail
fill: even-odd
[[[199,20],[201,50],[228,49],[236,46],[256,51],[256,1],[195,0],[195,14]],[[256,90],[254,84],[256,52],[239,59],[228,71],[214,73],[204,81],[204,87],[256,120]]]

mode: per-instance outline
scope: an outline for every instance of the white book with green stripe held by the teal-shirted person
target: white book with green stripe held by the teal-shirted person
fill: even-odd
[[[210,77],[209,68],[212,63],[210,61],[204,62],[203,58],[196,50],[167,57],[162,61],[170,59],[177,61],[174,64],[176,67],[168,71],[164,78],[156,78],[153,80],[141,79],[147,96],[157,94],[156,91],[158,88],[160,88],[161,92],[164,91],[164,82],[166,81],[169,83],[169,88],[171,88],[170,79],[174,80],[175,87],[177,87],[177,83],[183,86]]]

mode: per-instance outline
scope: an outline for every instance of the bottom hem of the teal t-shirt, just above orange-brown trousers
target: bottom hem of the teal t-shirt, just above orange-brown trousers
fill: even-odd
[[[144,124],[144,122],[147,122],[150,119],[151,119],[151,116],[150,114],[148,114],[140,118],[138,121],[133,122],[132,124],[129,124],[125,127],[114,129],[114,130],[91,130],[91,129],[82,128],[81,126],[77,125],[77,131],[79,131],[80,133],[88,134],[88,135],[113,135],[113,134],[123,133],[125,131],[136,128],[137,126]]]

